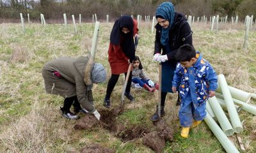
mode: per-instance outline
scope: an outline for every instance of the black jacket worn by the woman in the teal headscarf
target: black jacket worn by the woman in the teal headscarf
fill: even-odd
[[[163,46],[160,43],[162,27],[160,24],[156,24],[156,41],[155,41],[155,51],[154,54],[160,53]],[[171,52],[167,54],[168,61],[172,62],[172,64],[177,64],[175,60],[175,54],[177,49],[181,46],[188,43],[192,45],[192,31],[187,22],[186,17],[180,13],[175,13],[174,19],[174,27],[169,31],[169,43]],[[163,48],[162,55],[166,54],[165,48]]]

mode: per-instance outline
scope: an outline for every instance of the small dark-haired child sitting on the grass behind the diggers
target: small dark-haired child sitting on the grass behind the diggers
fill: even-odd
[[[155,85],[154,82],[152,82],[152,80],[147,77],[147,75],[143,71],[143,66],[138,56],[135,56],[133,61],[132,83],[134,83],[134,87],[143,87],[150,92],[156,91],[159,86],[158,84]]]

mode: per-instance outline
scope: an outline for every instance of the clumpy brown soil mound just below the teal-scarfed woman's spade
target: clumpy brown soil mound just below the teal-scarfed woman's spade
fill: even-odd
[[[143,136],[143,144],[150,149],[158,152],[163,152],[167,141],[172,142],[173,130],[168,128],[163,120],[156,122],[156,131],[152,131]]]

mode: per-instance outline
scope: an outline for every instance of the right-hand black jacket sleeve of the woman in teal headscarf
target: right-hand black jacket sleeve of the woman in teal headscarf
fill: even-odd
[[[192,34],[193,32],[191,31],[191,28],[188,24],[188,22],[184,21],[183,24],[180,24],[179,27],[179,33],[180,33],[180,40],[177,40],[180,42],[180,45],[184,45],[186,43],[188,43],[189,45],[192,45]],[[173,60],[175,59],[175,54],[177,52],[179,48],[176,48],[175,50],[173,50],[172,52],[167,54],[168,60]]]

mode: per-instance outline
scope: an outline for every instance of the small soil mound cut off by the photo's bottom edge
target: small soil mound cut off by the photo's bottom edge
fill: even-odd
[[[115,153],[115,151],[102,147],[99,144],[92,144],[88,147],[83,147],[83,149],[81,150],[81,153]]]

